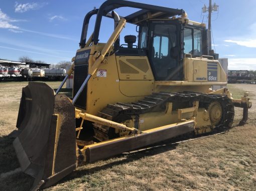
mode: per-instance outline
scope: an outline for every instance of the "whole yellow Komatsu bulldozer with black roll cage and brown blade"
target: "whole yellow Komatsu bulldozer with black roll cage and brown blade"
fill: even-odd
[[[120,7],[139,8],[127,16]],[[87,36],[91,16],[94,30]],[[99,42],[102,17],[113,20],[106,43]],[[134,24],[136,35],[120,33]],[[109,30],[109,28],[101,28]],[[234,106],[218,54],[208,48],[205,24],[183,9],[126,0],[107,0],[83,22],[73,65],[55,92],[45,83],[23,88],[14,147],[22,170],[35,177],[31,190],[50,186],[77,166],[193,132],[231,127]],[[137,42],[137,43],[136,43]],[[59,93],[73,73],[73,98]]]

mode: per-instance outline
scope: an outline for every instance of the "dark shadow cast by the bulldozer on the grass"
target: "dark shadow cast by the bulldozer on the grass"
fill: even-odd
[[[238,125],[234,125],[234,126],[238,126]],[[205,135],[216,134],[219,132],[226,132],[229,129],[230,128],[216,129],[212,133],[208,133]],[[13,140],[15,139],[15,136],[17,135],[16,133],[17,133],[16,131],[13,131],[12,133],[10,133],[7,136],[0,137],[0,147],[2,148],[2,149],[0,149],[0,156],[1,156],[0,157],[0,173],[9,172],[9,171],[12,171],[12,170],[20,167],[18,158],[16,157],[16,154],[15,154],[15,149],[12,144]],[[143,148],[135,150],[135,151],[131,151],[128,153],[122,153],[122,154],[115,156],[114,160],[116,160],[116,161],[112,161],[112,160],[109,160],[109,158],[107,158],[105,160],[101,160],[103,165],[99,165],[99,166],[95,166],[95,167],[91,167],[91,168],[80,167],[79,169],[71,172],[69,175],[64,177],[62,180],[60,180],[53,186],[55,186],[59,183],[65,183],[65,182],[70,181],[75,178],[82,177],[83,175],[94,174],[97,171],[108,169],[108,168],[111,168],[112,166],[121,165],[121,164],[129,163],[129,162],[132,162],[135,160],[139,160],[145,156],[154,156],[154,155],[157,155],[157,154],[160,154],[163,152],[171,151],[171,150],[176,149],[177,145],[179,144],[177,142],[179,142],[179,141],[184,141],[184,140],[188,140],[191,138],[204,137],[204,136],[195,136],[192,134],[187,134],[186,136],[181,136],[181,137],[165,140],[165,141],[162,141],[162,142],[159,142],[156,144],[149,145],[147,147],[143,147]],[[3,149],[3,148],[5,148],[5,149]],[[7,154],[7,152],[10,154]],[[120,159],[123,156],[125,156],[125,158]],[[96,162],[94,162],[94,163],[96,163]],[[91,163],[91,164],[93,165],[94,163]],[[84,166],[86,166],[86,164]],[[18,176],[19,176],[19,181],[9,181],[9,180],[13,179],[14,177],[18,177]],[[4,190],[6,190],[5,185],[8,185],[8,188],[10,188],[7,190],[14,190],[21,183],[24,184],[25,187],[24,188],[20,187],[19,190],[27,190],[27,188],[32,186],[33,181],[34,181],[33,177],[31,177],[23,172],[18,172],[16,174],[12,174],[9,177],[0,178],[0,183],[2,184],[2,186],[4,186],[3,187],[3,188],[5,188]],[[1,186],[0,186],[0,188],[1,188]]]

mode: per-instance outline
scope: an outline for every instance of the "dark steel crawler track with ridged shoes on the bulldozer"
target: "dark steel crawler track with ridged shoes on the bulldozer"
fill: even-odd
[[[199,101],[199,107],[208,109],[210,103],[218,101],[222,108],[222,116],[216,126],[230,127],[234,118],[234,106],[232,101],[226,96],[221,94],[207,94],[200,92],[156,92],[149,96],[145,96],[144,99],[137,102],[122,103],[117,102],[115,104],[107,104],[100,112],[98,116],[113,120],[116,122],[122,122],[132,118],[132,115],[139,115],[146,112],[164,111],[166,109],[166,103],[173,103],[173,110],[179,108],[191,107],[193,101]],[[104,126],[98,123],[94,123],[94,137],[100,141],[108,140],[118,137],[119,135],[114,133],[114,129],[108,126]],[[135,126],[136,127],[136,126]],[[138,126],[136,127],[138,128]]]

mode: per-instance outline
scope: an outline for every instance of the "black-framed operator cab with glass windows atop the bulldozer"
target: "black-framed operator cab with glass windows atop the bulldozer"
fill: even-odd
[[[200,23],[196,25],[182,23],[181,19],[148,19],[137,23],[136,35],[124,36],[127,44],[121,44],[117,55],[147,55],[155,80],[184,80],[183,57],[207,55],[206,29]],[[138,28],[137,27],[137,28]],[[133,38],[127,41],[127,37]]]

